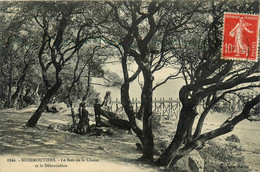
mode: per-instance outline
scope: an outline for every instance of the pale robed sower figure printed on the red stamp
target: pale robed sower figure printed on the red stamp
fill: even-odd
[[[229,33],[231,37],[235,36],[235,52],[237,53],[235,56],[239,56],[240,54],[249,54],[249,46],[248,41],[245,36],[245,31],[248,33],[253,33],[250,31],[247,26],[250,26],[250,23],[245,22],[244,18],[241,17],[235,28]]]

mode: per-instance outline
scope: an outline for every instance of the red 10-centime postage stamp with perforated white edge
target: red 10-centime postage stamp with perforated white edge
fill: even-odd
[[[256,61],[258,26],[259,15],[225,13],[222,59]]]

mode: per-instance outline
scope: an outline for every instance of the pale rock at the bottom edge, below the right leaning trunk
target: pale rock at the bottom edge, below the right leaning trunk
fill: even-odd
[[[193,172],[204,172],[204,160],[197,150],[189,154],[189,167]]]

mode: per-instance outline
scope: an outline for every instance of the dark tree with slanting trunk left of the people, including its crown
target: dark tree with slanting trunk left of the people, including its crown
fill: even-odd
[[[28,2],[25,4],[27,10],[30,8],[30,14],[33,16],[34,29],[40,35],[38,60],[47,90],[38,109],[27,122],[27,126],[34,127],[51,97],[61,87],[60,73],[66,64],[75,57],[88,40],[98,37],[95,19],[103,20],[103,13],[95,13],[99,3]]]

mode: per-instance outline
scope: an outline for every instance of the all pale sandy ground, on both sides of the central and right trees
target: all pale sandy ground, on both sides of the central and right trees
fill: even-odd
[[[49,129],[52,125],[67,125],[71,121],[68,112],[61,114],[44,113],[36,128],[25,127],[35,107],[16,111],[0,111],[0,172],[19,171],[163,171],[136,161],[141,152],[136,150],[138,139],[124,130],[115,130],[111,136],[81,136],[70,132]],[[92,111],[91,109],[88,109]],[[93,119],[93,117],[92,117]],[[204,132],[219,127],[226,115],[211,114],[206,119]],[[176,121],[165,123],[169,131],[174,131]],[[260,125],[259,122],[243,121],[235,129],[215,140],[223,141],[231,134],[237,134],[241,140],[243,155],[251,171],[260,171]],[[170,132],[169,139],[173,136]],[[55,158],[49,164],[64,164],[61,167],[35,167],[39,162],[21,162],[22,158]],[[15,159],[15,163],[7,159]],[[68,159],[75,162],[68,161]],[[76,162],[76,159],[79,161]],[[66,159],[62,161],[62,159]],[[46,163],[45,163],[46,164]],[[48,164],[48,163],[47,163]]]

